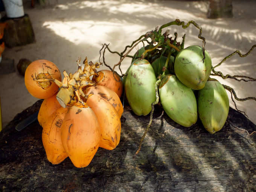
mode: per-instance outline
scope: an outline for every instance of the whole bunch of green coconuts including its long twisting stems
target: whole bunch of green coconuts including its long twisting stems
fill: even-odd
[[[185,29],[190,24],[199,29],[198,38],[203,41],[202,46],[184,47],[185,34],[182,41],[179,42],[176,32],[174,37],[169,37],[169,30],[162,33],[162,29],[171,25],[182,26]],[[209,133],[216,133],[224,126],[229,113],[229,98],[226,90],[230,91],[234,103],[233,97],[238,101],[248,99],[256,101],[254,97],[238,98],[233,88],[222,85],[210,77],[219,76],[223,79],[232,78],[237,81],[256,81],[248,76],[224,76],[222,72],[215,71],[216,67],[235,54],[241,57],[247,56],[256,45],[253,45],[244,55],[236,50],[213,67],[211,57],[205,50],[206,39],[201,34],[202,28],[195,21],[185,24],[184,21],[176,19],[163,24],[159,29],[146,32],[131,45],[126,46],[121,53],[111,51],[107,44],[103,45],[102,49],[105,46],[103,63],[112,71],[117,66],[120,69],[120,64],[125,57],[132,58],[126,73],[123,74],[120,69],[122,75],[119,76],[123,77],[125,96],[133,112],[138,116],[150,113],[150,121],[140,141],[140,146],[152,123],[152,114],[156,104],[161,104],[166,114],[182,126],[192,126],[199,117]],[[143,46],[137,50],[135,55],[129,55],[131,50],[138,47],[139,44],[143,44]],[[105,63],[106,49],[120,56],[120,61],[114,65],[113,69]],[[139,150],[140,147],[137,152]]]

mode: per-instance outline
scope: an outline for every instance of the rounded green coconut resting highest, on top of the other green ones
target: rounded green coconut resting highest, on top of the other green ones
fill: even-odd
[[[212,60],[206,50],[203,62],[202,50],[202,47],[197,45],[182,49],[174,63],[174,71],[178,79],[187,87],[195,90],[204,88],[212,68]]]

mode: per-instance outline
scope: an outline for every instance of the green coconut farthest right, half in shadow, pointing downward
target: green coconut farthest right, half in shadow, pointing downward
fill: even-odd
[[[229,98],[225,88],[217,81],[207,81],[198,91],[198,114],[210,133],[221,130],[229,114]]]

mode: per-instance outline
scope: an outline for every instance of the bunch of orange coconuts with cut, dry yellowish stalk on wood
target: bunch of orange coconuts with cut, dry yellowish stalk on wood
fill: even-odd
[[[97,72],[100,64],[87,58],[80,62],[74,74],[63,72],[63,81],[58,67],[47,60],[32,62],[24,77],[29,93],[44,99],[38,122],[47,159],[59,164],[69,157],[78,168],[89,165],[99,147],[116,148],[123,113],[119,76]]]

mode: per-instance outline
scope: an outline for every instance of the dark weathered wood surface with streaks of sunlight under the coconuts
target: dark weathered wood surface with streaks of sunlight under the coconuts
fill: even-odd
[[[212,135],[199,121],[184,128],[157,108],[142,149],[133,158],[149,116],[137,117],[126,106],[117,148],[99,148],[89,166],[75,168],[69,158],[59,165],[47,161],[38,122],[15,130],[40,105],[38,101],[18,114],[0,133],[0,191],[256,191],[256,134],[248,136],[229,123]],[[256,130],[232,108],[228,121]]]

